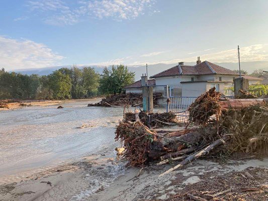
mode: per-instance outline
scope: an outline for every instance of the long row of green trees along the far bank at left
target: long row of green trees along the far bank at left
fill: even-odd
[[[49,75],[24,75],[0,70],[0,99],[70,99],[121,93],[134,82],[135,73],[127,66],[105,68],[100,75],[92,67],[60,68]]]

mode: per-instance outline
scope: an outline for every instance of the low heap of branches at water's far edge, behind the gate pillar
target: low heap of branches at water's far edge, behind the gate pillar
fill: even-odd
[[[161,96],[161,93],[153,94],[154,105],[156,105],[156,97]],[[101,100],[97,104],[88,104],[87,107],[91,106],[103,106],[103,107],[124,107],[124,106],[140,106],[142,107],[142,95],[136,93],[121,93],[109,95]]]

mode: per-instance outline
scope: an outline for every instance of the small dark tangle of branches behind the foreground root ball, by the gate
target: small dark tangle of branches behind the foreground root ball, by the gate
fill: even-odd
[[[124,116],[126,121],[135,122],[135,114],[128,112]],[[139,113],[140,121],[147,127],[158,128],[166,125],[176,125],[178,120],[172,112],[168,113]]]

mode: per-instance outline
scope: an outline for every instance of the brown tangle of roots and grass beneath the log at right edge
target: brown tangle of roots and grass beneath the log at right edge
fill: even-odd
[[[241,110],[229,110],[220,117],[220,127],[233,137],[228,153],[268,153],[268,108],[251,106]]]

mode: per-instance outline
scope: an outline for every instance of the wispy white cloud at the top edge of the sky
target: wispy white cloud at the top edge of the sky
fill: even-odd
[[[155,0],[82,0],[72,2],[72,7],[61,0],[31,0],[32,12],[43,16],[50,25],[73,25],[82,18],[112,18],[132,20],[150,11]],[[56,14],[55,14],[56,13]]]

